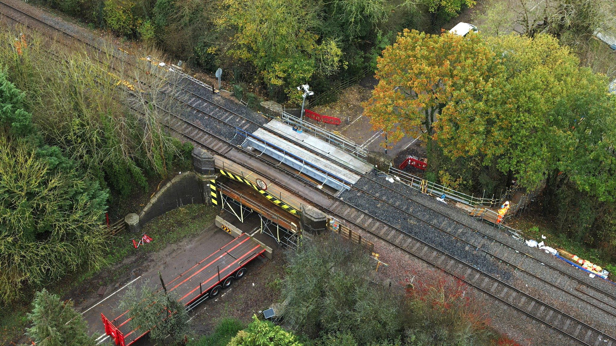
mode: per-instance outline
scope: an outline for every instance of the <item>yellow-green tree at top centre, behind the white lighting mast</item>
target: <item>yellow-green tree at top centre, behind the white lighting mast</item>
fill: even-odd
[[[256,66],[265,84],[295,95],[295,87],[309,80],[315,66],[331,73],[341,57],[334,41],[317,43],[315,12],[300,0],[225,0],[214,22],[235,32],[230,55]]]

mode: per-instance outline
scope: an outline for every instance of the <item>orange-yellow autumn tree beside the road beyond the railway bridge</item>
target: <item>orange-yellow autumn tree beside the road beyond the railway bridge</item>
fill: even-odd
[[[390,142],[419,134],[450,156],[476,155],[496,121],[504,69],[476,35],[465,38],[405,30],[378,60],[364,115]]]

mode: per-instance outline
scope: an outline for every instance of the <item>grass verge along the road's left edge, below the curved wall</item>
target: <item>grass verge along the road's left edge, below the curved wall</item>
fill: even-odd
[[[144,246],[139,246],[139,249],[135,249],[132,246],[132,241],[130,239],[140,234],[134,235],[128,232],[120,233],[120,235],[114,236],[113,239],[111,239],[110,246],[107,249],[106,259],[108,267],[118,264],[129,255],[136,254],[137,251],[160,251],[168,244],[177,243],[189,236],[196,235],[209,227],[217,214],[218,210],[215,207],[205,206],[204,204],[188,204],[187,206],[179,207],[166,214],[160,215],[142,228],[142,233],[147,233],[147,235],[153,238],[153,241]],[[116,270],[113,275],[107,277],[107,282],[104,284],[117,281],[120,275],[126,273],[128,269],[129,266],[126,265]],[[105,270],[105,268],[102,270]],[[90,280],[99,272],[100,270],[95,271],[86,269],[68,276],[59,283],[48,286],[47,289],[52,293],[62,296],[70,291],[70,289]],[[102,286],[103,283],[99,284]],[[15,302],[12,306],[2,309],[2,313],[0,313],[0,345],[15,345],[13,340],[15,337],[18,337],[27,326],[28,320],[26,318],[26,313],[29,311],[30,302],[27,297],[23,297],[23,299]]]

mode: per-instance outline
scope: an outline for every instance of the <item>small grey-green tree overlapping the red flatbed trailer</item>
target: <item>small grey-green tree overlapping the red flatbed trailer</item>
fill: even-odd
[[[131,328],[140,332],[149,330],[152,339],[164,340],[170,335],[171,340],[183,344],[191,332],[191,326],[188,312],[177,298],[173,292],[151,288],[149,281],[146,281],[140,289],[131,286],[126,291],[118,310],[128,310]]]

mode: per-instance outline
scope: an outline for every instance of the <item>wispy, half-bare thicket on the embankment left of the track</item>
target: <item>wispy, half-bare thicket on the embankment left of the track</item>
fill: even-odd
[[[14,41],[12,33],[2,33],[0,38]],[[21,56],[9,44],[0,46],[0,60],[9,80],[29,95],[28,109],[43,139],[79,161],[83,172],[125,198],[147,187],[146,174],[165,177],[174,163],[181,162],[187,146],[171,137],[161,123],[161,108],[168,99],[160,92],[166,82],[158,73],[117,76],[118,71],[108,67],[111,62],[105,66],[52,45],[50,49],[64,57],[54,60],[43,49],[44,38],[34,34],[28,41]],[[150,87],[133,93],[117,87],[118,78],[138,78],[143,88]],[[126,99],[131,108],[118,102]]]

